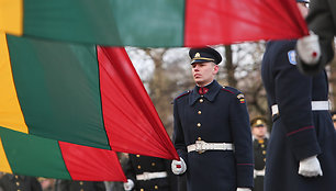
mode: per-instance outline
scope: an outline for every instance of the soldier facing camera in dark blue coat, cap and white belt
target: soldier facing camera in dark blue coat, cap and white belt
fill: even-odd
[[[173,144],[187,173],[188,191],[244,191],[254,184],[253,142],[244,94],[216,80],[222,57],[215,49],[191,48],[197,86],[173,101]]]

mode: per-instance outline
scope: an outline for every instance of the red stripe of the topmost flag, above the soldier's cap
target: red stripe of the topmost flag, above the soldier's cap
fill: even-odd
[[[288,40],[307,34],[294,0],[186,0],[184,46]]]

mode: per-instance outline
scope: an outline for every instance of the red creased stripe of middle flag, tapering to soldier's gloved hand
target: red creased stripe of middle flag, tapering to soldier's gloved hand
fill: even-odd
[[[97,47],[105,130],[113,150],[167,159],[178,154],[124,48]]]

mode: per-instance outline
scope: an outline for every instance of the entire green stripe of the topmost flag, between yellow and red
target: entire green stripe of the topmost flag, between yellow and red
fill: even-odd
[[[25,0],[23,34],[117,46],[182,46],[182,0]]]

